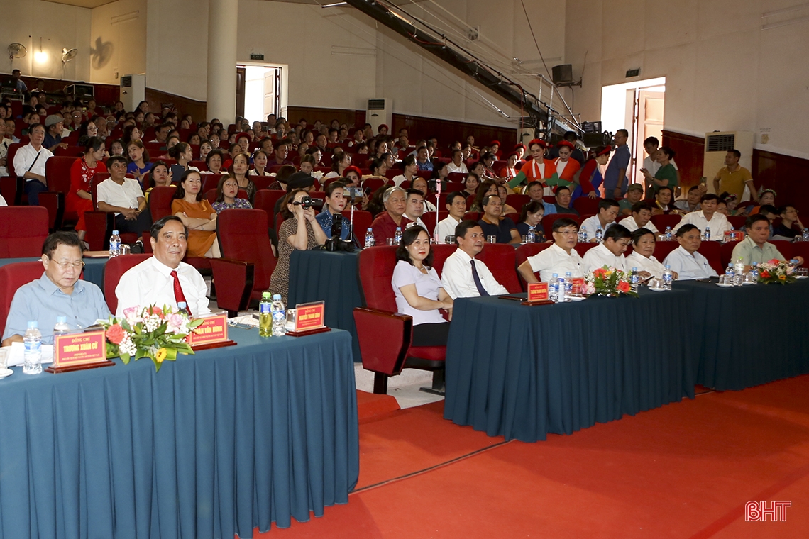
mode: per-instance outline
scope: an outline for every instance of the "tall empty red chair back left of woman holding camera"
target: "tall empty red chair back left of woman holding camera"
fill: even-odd
[[[267,235],[267,222],[267,214],[260,209],[228,209],[216,220],[222,258],[254,265],[254,293],[269,288],[277,262]]]

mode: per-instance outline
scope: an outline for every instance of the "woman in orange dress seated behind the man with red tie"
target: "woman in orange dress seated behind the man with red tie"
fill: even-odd
[[[222,256],[216,241],[216,211],[202,198],[202,177],[185,171],[172,200],[172,213],[188,227],[188,256],[218,259]]]

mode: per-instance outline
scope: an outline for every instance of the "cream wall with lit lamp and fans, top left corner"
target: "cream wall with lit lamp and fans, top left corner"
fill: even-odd
[[[41,0],[2,2],[0,72],[11,73],[6,55],[6,47],[11,43],[22,43],[28,48],[26,57],[14,61],[14,69],[25,76],[42,78],[63,78],[61,50],[78,48],[78,56],[65,66],[64,78],[87,81],[90,78],[89,35],[90,10],[86,8]],[[44,62],[35,59],[35,53],[40,50],[40,36],[42,51],[48,54]]]

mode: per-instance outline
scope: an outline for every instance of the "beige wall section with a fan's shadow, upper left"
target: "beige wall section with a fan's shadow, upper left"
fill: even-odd
[[[91,11],[91,81],[118,84],[122,75],[146,73],[146,0],[118,0]]]

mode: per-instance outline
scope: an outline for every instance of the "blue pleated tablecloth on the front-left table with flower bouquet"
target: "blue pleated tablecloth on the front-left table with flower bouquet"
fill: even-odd
[[[0,537],[252,537],[346,503],[359,470],[350,336],[0,380]]]

